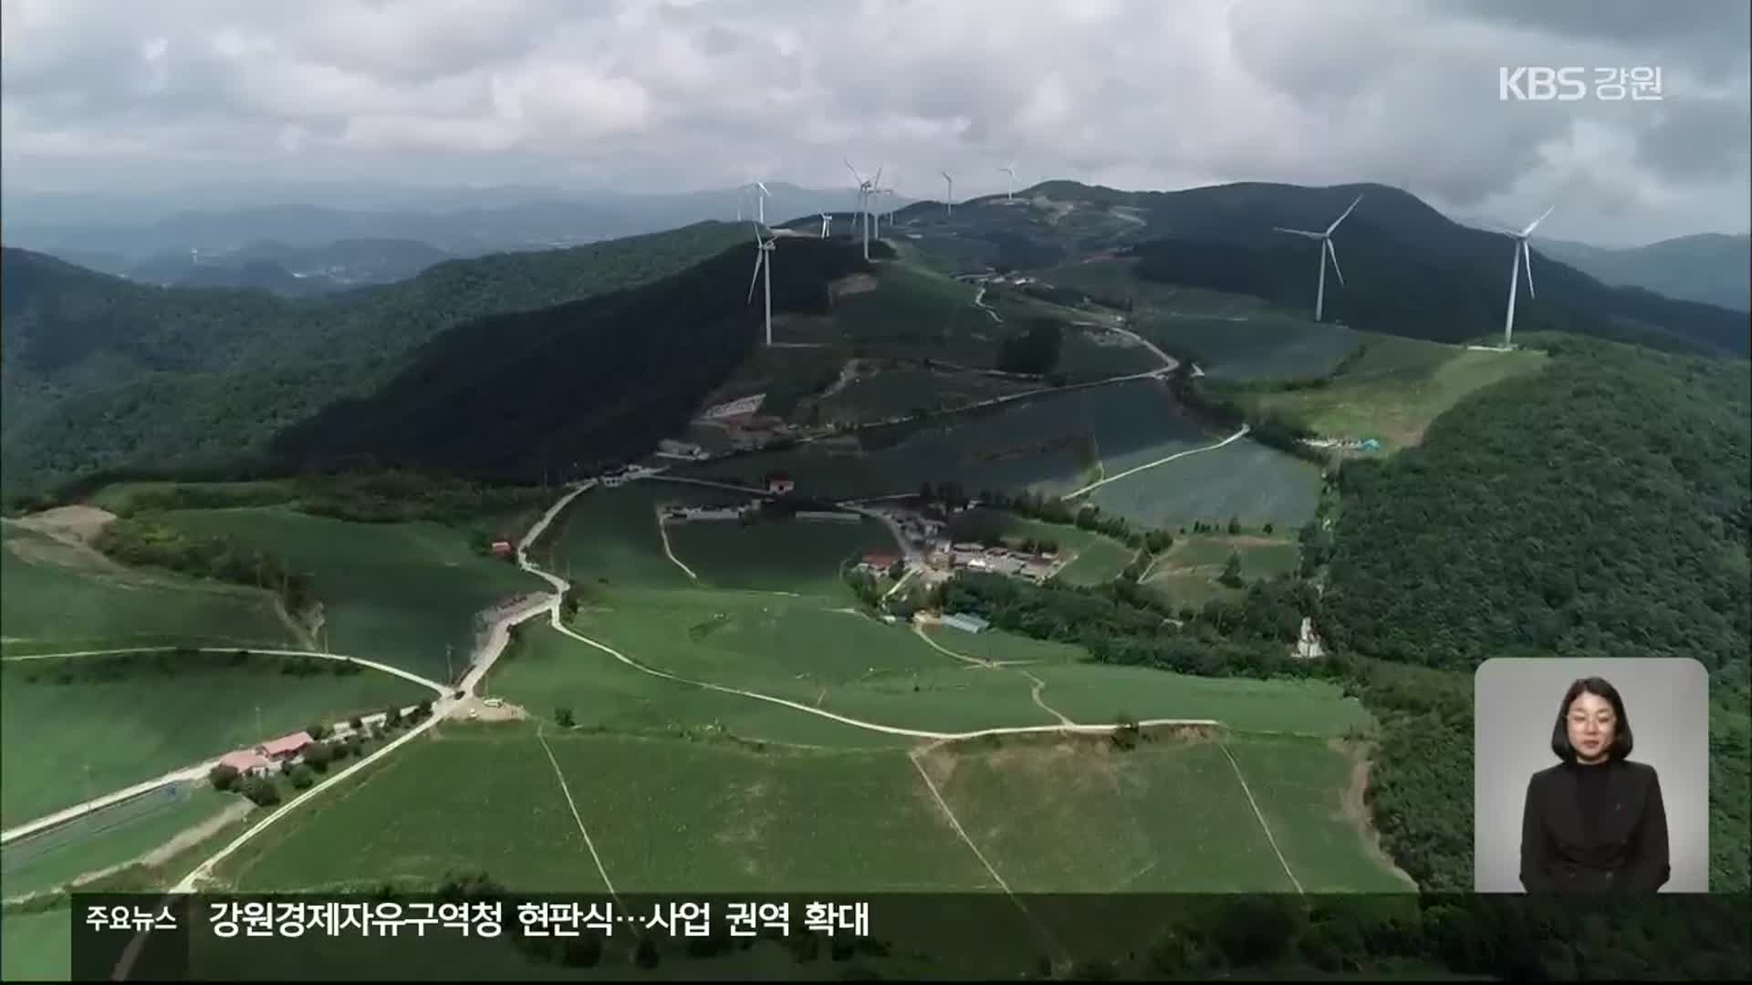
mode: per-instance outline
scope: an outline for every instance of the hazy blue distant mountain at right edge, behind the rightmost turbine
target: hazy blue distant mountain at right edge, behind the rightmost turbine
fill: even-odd
[[[1752,310],[1752,235],[1699,233],[1643,247],[1607,249],[1565,240],[1533,240],[1563,263],[1603,284],[1645,287],[1668,298]]]

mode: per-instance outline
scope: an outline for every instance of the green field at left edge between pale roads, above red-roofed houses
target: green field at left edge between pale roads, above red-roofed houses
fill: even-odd
[[[373,670],[289,677],[279,657],[231,661],[124,654],[0,664],[0,822],[11,827],[312,722],[431,696]],[[61,684],[63,673],[75,677]]]

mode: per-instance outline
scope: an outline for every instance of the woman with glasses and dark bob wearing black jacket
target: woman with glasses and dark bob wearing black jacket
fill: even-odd
[[[1631,720],[1598,677],[1563,696],[1551,733],[1558,766],[1528,783],[1521,885],[1528,892],[1656,892],[1671,875],[1654,766],[1631,762]]]

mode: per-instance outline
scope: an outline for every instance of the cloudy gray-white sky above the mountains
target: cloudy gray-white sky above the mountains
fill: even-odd
[[[0,181],[1407,188],[1601,244],[1748,226],[1745,0],[0,0]],[[1500,67],[1580,67],[1503,102]],[[1607,102],[1596,68],[1659,67]]]

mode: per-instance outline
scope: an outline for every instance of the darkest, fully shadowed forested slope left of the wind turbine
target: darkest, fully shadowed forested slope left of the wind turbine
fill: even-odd
[[[829,282],[869,270],[846,240],[794,238],[781,251],[774,312],[825,314]],[[503,478],[645,454],[753,349],[752,259],[741,244],[638,287],[459,324],[378,393],[287,429],[273,452]]]

